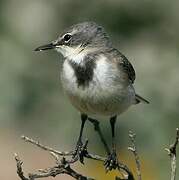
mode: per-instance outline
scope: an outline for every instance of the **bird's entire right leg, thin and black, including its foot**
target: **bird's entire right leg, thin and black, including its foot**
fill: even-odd
[[[117,160],[117,154],[116,154],[116,141],[115,141],[116,118],[117,118],[117,116],[113,116],[110,118],[110,125],[111,125],[111,131],[112,131],[112,151],[108,155],[108,157],[105,161],[105,164],[104,164],[106,171],[110,171],[110,170],[116,169],[118,167],[118,160]]]

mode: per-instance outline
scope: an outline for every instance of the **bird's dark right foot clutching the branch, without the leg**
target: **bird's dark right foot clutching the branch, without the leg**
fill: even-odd
[[[119,163],[118,163],[118,159],[117,159],[117,155],[115,151],[113,151],[112,153],[108,155],[106,161],[104,162],[104,166],[105,166],[106,172],[111,171],[112,169],[118,168]]]

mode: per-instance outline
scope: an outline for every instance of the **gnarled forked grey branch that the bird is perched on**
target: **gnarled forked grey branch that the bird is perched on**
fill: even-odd
[[[78,154],[75,154],[76,153],[75,151],[61,152],[61,151],[54,150],[53,148],[44,146],[40,142],[35,141],[26,136],[22,136],[22,139],[28,143],[31,143],[31,144],[41,148],[42,150],[50,152],[52,157],[55,159],[56,166],[54,166],[52,168],[48,168],[48,169],[40,169],[40,170],[38,170],[39,173],[29,174],[28,177],[25,177],[23,170],[22,170],[22,161],[16,155],[15,159],[16,159],[16,163],[17,163],[17,174],[21,180],[35,180],[37,178],[44,178],[44,177],[49,177],[49,176],[55,177],[58,174],[68,174],[77,180],[92,180],[92,178],[89,178],[89,177],[86,177],[86,176],[83,176],[83,175],[77,173],[75,170],[73,170],[70,167],[70,164],[76,163],[78,160],[83,162],[84,158],[101,161],[103,163],[106,161],[106,158],[99,156],[99,155],[91,154],[87,151],[88,140],[86,140],[86,142],[81,147],[81,149],[79,149]],[[74,155],[76,155],[76,156],[74,156]],[[63,156],[63,157],[60,158],[61,156]],[[70,156],[71,159],[66,160],[64,158],[64,156]],[[123,177],[124,177],[123,180],[134,180],[134,176],[133,176],[132,172],[125,164],[118,163],[118,170],[123,175]],[[116,179],[117,179],[117,177],[116,177]]]

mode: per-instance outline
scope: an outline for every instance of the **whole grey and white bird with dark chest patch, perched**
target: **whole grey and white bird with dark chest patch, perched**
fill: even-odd
[[[95,22],[81,22],[66,28],[58,38],[35,51],[54,49],[62,56],[61,82],[65,94],[81,114],[80,135],[75,155],[80,156],[85,122],[94,124],[107,158],[105,168],[118,165],[115,140],[117,116],[131,105],[149,101],[134,89],[135,70],[130,61],[112,44],[105,29]],[[112,132],[112,149],[105,142],[96,117],[107,117]]]

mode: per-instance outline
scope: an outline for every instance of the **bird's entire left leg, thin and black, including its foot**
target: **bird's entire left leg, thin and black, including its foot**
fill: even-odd
[[[85,125],[87,118],[88,118],[88,116],[86,114],[81,114],[80,135],[78,137],[77,145],[76,145],[75,152],[73,155],[73,158],[75,158],[75,159],[78,158],[81,163],[84,163],[84,156],[87,151],[86,147],[84,147],[83,143],[82,143],[83,129],[84,129],[84,125]]]

